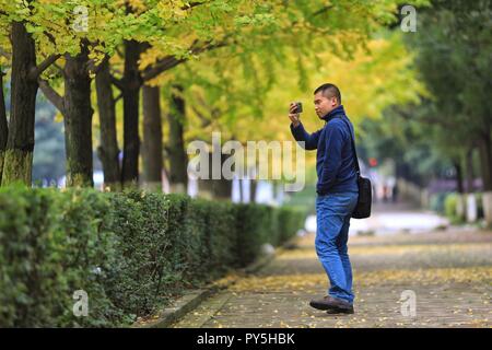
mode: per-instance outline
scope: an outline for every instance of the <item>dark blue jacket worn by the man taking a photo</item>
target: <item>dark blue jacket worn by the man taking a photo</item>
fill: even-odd
[[[345,119],[350,125],[341,119]],[[316,173],[318,183],[316,192],[328,195],[337,192],[358,192],[358,174],[354,163],[352,142],[353,126],[340,105],[326,116],[325,127],[314,133],[307,133],[304,126],[300,124],[291,131],[295,140],[304,141],[306,150],[316,150]]]

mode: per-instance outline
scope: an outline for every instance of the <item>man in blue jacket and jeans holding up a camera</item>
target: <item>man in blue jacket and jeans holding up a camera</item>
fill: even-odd
[[[341,105],[340,90],[323,84],[314,92],[316,114],[323,129],[308,133],[300,121],[294,103],[289,118],[295,140],[306,150],[317,150],[316,253],[330,281],[328,295],[309,305],[328,313],[353,314],[352,267],[347,242],[352,212],[358,203],[358,174],[351,138],[353,126]]]

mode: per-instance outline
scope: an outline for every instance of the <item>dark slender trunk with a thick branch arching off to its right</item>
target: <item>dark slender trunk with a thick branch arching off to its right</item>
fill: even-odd
[[[140,44],[125,40],[124,98],[124,160],[121,183],[138,186],[139,180],[139,103],[141,77],[139,72]]]

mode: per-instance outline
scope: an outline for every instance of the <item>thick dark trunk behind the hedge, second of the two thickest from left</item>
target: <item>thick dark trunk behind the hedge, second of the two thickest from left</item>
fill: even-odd
[[[86,46],[75,56],[66,56],[65,144],[67,186],[93,186],[91,78]]]

